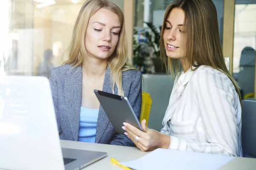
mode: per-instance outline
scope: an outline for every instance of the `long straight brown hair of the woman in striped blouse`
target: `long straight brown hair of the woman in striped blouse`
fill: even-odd
[[[174,0],[166,8],[163,28],[173,8],[180,8],[185,13],[185,56],[189,66],[195,67],[194,70],[196,70],[200,65],[207,65],[226,74],[233,82],[241,102],[239,85],[230,75],[224,62],[218,31],[217,11],[212,0]],[[178,59],[167,57],[163,31],[164,29],[161,30],[160,36],[160,56],[167,72],[175,76],[180,71],[180,65]],[[167,62],[166,58],[168,58]]]

